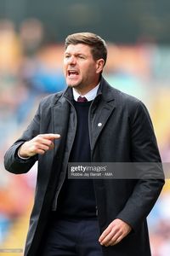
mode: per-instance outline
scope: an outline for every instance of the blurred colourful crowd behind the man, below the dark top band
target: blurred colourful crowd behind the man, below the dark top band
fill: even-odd
[[[108,42],[108,49],[104,77],[145,103],[161,158],[170,162],[170,45]],[[34,166],[26,175],[9,174],[3,167],[3,154],[26,129],[40,99],[65,89],[63,51],[64,44],[48,42],[40,20],[24,20],[17,29],[11,20],[0,20],[0,247],[8,241],[14,223],[30,211],[37,171]],[[169,209],[167,179],[149,216],[153,256],[170,255]],[[25,238],[26,230],[20,232]]]

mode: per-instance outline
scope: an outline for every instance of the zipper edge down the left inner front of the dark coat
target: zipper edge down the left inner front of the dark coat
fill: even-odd
[[[74,109],[75,116],[76,116],[76,129],[75,129],[74,137],[73,137],[73,140],[72,140],[72,143],[71,143],[71,148],[72,148],[72,145],[74,143],[74,139],[75,139],[75,136],[76,136],[76,132],[77,132],[77,112],[76,112],[76,109],[75,109],[74,105],[72,104],[72,102],[70,102],[67,98],[66,98],[66,101],[71,104],[71,107]],[[70,152],[68,154],[68,160],[69,160],[70,154],[71,154],[71,149],[70,149]],[[56,211],[56,209],[57,209],[57,201],[58,201],[58,197],[59,197],[59,192],[60,192],[60,190],[63,186],[63,183],[65,182],[65,176],[66,176],[66,171],[65,171],[64,178],[63,178],[63,182],[60,184],[59,189],[56,191],[56,193],[54,195],[54,202],[53,202],[52,211]]]

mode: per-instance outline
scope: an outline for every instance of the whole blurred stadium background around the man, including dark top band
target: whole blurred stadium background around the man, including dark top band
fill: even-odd
[[[5,172],[3,155],[42,96],[65,89],[67,34],[105,38],[105,78],[145,103],[161,158],[170,162],[169,27],[168,0],[0,0],[0,255],[22,254],[7,250],[24,247],[37,175],[37,166],[26,175]],[[152,256],[170,255],[169,179],[148,220]]]

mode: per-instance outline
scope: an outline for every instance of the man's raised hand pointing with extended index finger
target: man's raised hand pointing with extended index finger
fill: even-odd
[[[54,139],[58,139],[59,137],[59,134],[54,133],[39,134],[30,141],[23,143],[19,148],[19,154],[21,157],[45,154],[46,151],[54,148]]]

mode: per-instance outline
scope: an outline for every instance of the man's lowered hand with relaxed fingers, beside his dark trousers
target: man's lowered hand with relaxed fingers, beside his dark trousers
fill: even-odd
[[[101,234],[99,243],[105,247],[114,246],[122,241],[131,230],[132,228],[129,224],[122,221],[122,219],[116,218]]]

